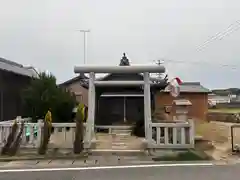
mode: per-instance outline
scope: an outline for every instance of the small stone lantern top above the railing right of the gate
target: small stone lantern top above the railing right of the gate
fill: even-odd
[[[192,103],[187,99],[177,99],[173,101],[173,109],[175,110],[175,120],[187,121],[188,112]]]

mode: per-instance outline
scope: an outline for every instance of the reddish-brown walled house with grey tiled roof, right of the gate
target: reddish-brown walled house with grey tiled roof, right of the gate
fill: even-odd
[[[208,112],[208,94],[211,91],[203,87],[199,82],[184,82],[180,85],[180,95],[174,98],[170,95],[169,90],[165,89],[159,91],[155,95],[155,106],[157,109],[162,107],[172,106],[172,102],[175,99],[185,99],[191,102],[189,107],[189,116],[195,119],[206,119]],[[174,114],[172,114],[174,115]]]

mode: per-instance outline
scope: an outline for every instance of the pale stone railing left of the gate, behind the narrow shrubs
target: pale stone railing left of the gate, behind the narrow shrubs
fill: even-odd
[[[0,123],[0,147],[2,147],[12,130],[14,121]],[[21,121],[18,122],[19,127]],[[24,131],[22,134],[22,141],[20,147],[23,148],[37,148],[40,146],[43,121],[39,120],[38,123],[25,123]],[[51,134],[50,144],[53,148],[72,148],[75,139],[75,123],[52,123],[53,132]],[[84,124],[84,129],[86,125]]]

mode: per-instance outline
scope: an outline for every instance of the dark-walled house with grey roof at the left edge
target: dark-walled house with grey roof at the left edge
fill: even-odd
[[[38,77],[34,68],[0,58],[1,121],[22,115],[21,92],[30,83],[32,77]]]

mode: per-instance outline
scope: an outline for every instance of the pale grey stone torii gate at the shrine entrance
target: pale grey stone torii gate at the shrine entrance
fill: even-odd
[[[145,124],[145,138],[149,139],[149,123],[151,123],[151,95],[149,73],[164,73],[165,67],[163,66],[76,66],[74,67],[75,73],[89,73],[89,89],[88,89],[88,120],[86,127],[86,135],[84,146],[85,148],[91,147],[91,141],[94,136],[95,124],[95,86],[144,86],[144,124]],[[96,73],[143,73],[143,81],[98,81],[95,79]]]

